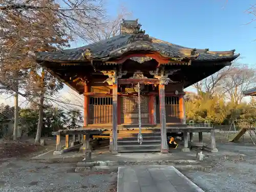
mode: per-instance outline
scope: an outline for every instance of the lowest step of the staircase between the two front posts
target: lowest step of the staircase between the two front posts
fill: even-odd
[[[118,152],[160,152],[161,144],[118,145],[117,151]]]

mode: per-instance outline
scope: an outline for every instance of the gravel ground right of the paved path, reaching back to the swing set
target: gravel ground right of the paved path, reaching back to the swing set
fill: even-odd
[[[207,138],[206,138],[207,140]],[[256,146],[249,138],[244,142],[230,143],[225,135],[218,135],[219,151],[243,154],[244,161],[215,159],[211,170],[181,170],[205,192],[254,192],[256,191]]]

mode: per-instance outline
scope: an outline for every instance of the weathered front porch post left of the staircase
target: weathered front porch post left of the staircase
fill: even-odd
[[[113,147],[112,147],[112,153],[117,153],[117,83],[113,84],[113,116],[112,116],[112,141],[113,141]]]

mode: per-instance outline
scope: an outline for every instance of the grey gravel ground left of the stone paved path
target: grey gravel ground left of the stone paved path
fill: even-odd
[[[69,163],[12,160],[0,164],[0,191],[115,191],[116,173],[75,173]]]

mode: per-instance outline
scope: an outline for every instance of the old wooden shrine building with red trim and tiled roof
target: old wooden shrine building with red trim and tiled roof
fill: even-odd
[[[166,152],[167,134],[186,129],[184,89],[231,65],[239,55],[234,50],[182,47],[140,28],[138,20],[123,20],[120,35],[61,52],[40,52],[37,61],[84,95],[83,129],[109,131],[113,151],[120,151],[118,138],[139,133],[141,122],[142,134],[160,134],[157,149]]]

